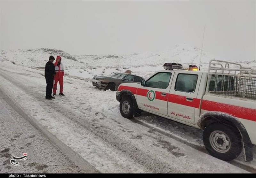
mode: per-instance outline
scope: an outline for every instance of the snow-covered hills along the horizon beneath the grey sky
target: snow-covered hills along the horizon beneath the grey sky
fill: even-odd
[[[63,50],[34,49],[34,50],[1,50],[0,61],[8,60],[15,65],[24,67],[44,67],[50,55],[60,55],[65,66],[66,74],[79,74],[78,77],[92,78],[94,75],[111,75],[129,69],[134,74],[147,78],[152,73],[162,70],[165,62],[194,64],[199,66],[201,49],[186,44],[174,46],[162,52],[149,52],[125,55],[70,55]],[[211,59],[228,60],[203,51],[201,70],[207,70]],[[230,60],[228,60],[230,61]],[[232,61],[243,63],[245,67],[256,68],[256,60]]]

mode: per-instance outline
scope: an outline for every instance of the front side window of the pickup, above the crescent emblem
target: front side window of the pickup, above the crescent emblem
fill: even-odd
[[[160,72],[146,81],[146,87],[166,89],[169,85],[172,73]]]

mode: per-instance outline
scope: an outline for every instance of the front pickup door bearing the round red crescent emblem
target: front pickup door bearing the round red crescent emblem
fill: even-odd
[[[167,116],[167,100],[174,72],[158,72],[139,86],[136,92],[138,107],[151,113]]]

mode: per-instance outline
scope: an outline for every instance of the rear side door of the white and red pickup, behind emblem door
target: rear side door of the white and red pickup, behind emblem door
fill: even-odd
[[[168,116],[195,124],[195,109],[199,109],[201,98],[197,98],[202,73],[176,71],[168,97]]]

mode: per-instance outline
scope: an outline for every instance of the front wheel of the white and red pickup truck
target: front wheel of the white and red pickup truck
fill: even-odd
[[[120,113],[124,118],[132,119],[134,114],[134,106],[131,98],[123,97],[119,104]]]

